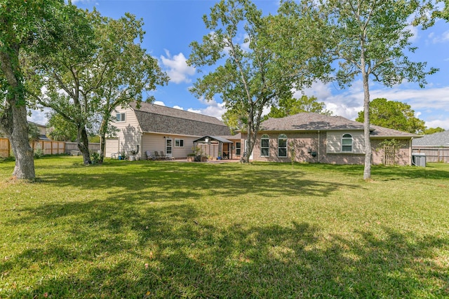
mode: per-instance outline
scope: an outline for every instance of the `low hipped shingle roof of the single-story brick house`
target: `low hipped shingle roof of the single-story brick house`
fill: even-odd
[[[371,125],[371,136],[373,137],[396,137],[410,138],[419,137],[416,134],[401,132]],[[297,113],[285,118],[269,118],[260,126],[263,131],[334,131],[334,130],[363,130],[363,123],[343,118],[342,116],[326,116],[319,113]]]

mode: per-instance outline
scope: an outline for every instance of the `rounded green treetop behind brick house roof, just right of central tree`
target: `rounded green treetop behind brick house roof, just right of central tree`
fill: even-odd
[[[316,97],[307,97],[307,95],[302,95],[299,99],[293,97],[290,97],[289,99],[280,99],[279,105],[272,106],[264,119],[283,118],[301,112],[315,112],[326,115],[332,114],[332,112],[326,110],[325,106],[324,102],[318,102]]]

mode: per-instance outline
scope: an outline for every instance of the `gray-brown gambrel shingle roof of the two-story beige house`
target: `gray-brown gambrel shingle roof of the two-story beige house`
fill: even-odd
[[[134,102],[130,104],[130,107],[135,111],[135,116],[143,132],[190,136],[229,134],[229,128],[213,116],[147,102],[142,102],[139,108]]]

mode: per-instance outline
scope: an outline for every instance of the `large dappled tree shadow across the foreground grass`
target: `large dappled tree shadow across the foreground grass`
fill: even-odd
[[[34,284],[4,288],[0,295],[449,296],[448,235],[416,235],[387,227],[360,228],[353,235],[328,234],[319,225],[295,221],[289,225],[214,223],[190,204],[142,207],[138,200],[119,199],[78,207],[76,202],[68,204],[72,207],[67,207],[67,216],[74,213],[76,218],[70,218],[74,226],[66,225],[65,235],[39,248],[25,249],[0,265],[0,273],[29,271]],[[39,209],[37,220],[48,221]],[[63,216],[55,219],[58,226],[64,225]],[[33,265],[39,265],[42,272],[33,272]]]

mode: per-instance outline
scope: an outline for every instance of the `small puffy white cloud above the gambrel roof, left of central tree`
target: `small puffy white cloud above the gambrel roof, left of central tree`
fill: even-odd
[[[187,59],[184,54],[179,53],[173,57],[170,52],[166,50],[166,56],[161,55],[162,64],[167,68],[167,74],[170,77],[170,81],[174,83],[191,83],[192,80],[189,76],[195,74],[194,67],[187,65]]]

